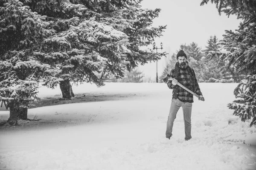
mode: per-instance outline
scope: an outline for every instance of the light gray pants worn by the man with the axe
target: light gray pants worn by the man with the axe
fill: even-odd
[[[166,137],[172,136],[173,122],[176,118],[177,112],[182,107],[183,119],[185,125],[185,140],[191,139],[191,113],[192,113],[192,103],[184,103],[179,99],[172,99],[172,104],[169,111],[167,127],[166,127]]]

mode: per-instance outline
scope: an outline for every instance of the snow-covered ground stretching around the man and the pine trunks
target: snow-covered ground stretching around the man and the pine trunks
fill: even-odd
[[[166,139],[172,91],[163,83],[74,86],[95,102],[29,109],[21,126],[0,128],[2,170],[256,170],[256,127],[233,116],[237,84],[200,83],[192,139],[184,141],[182,109]],[[39,89],[60,97],[60,89]],[[104,97],[105,96],[105,97]],[[99,102],[99,97],[104,101]],[[0,122],[9,111],[0,111]]]

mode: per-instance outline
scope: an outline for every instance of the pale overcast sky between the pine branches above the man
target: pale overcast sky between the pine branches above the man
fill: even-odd
[[[163,42],[163,51],[169,54],[176,53],[180,44],[196,42],[202,49],[207,45],[210,36],[216,35],[221,40],[225,30],[238,28],[240,21],[236,16],[229,18],[225,14],[218,14],[214,4],[200,6],[201,0],[143,0],[142,8],[160,8],[158,18],[153,26],[167,25],[163,36],[156,39],[157,47]],[[152,48],[152,46],[148,46]],[[166,65],[164,57],[157,63],[158,77],[162,74]],[[145,77],[156,77],[156,62],[139,67]]]

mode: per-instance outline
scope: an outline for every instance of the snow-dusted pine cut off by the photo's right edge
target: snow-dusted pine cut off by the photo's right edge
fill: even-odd
[[[219,14],[234,14],[241,19],[236,31],[226,30],[221,45],[228,53],[210,51],[211,57],[219,56],[219,62],[228,61],[236,72],[248,75],[234,90],[233,103],[228,104],[234,115],[242,121],[252,118],[250,125],[256,125],[256,1],[255,0],[202,0],[201,5],[215,3]]]

